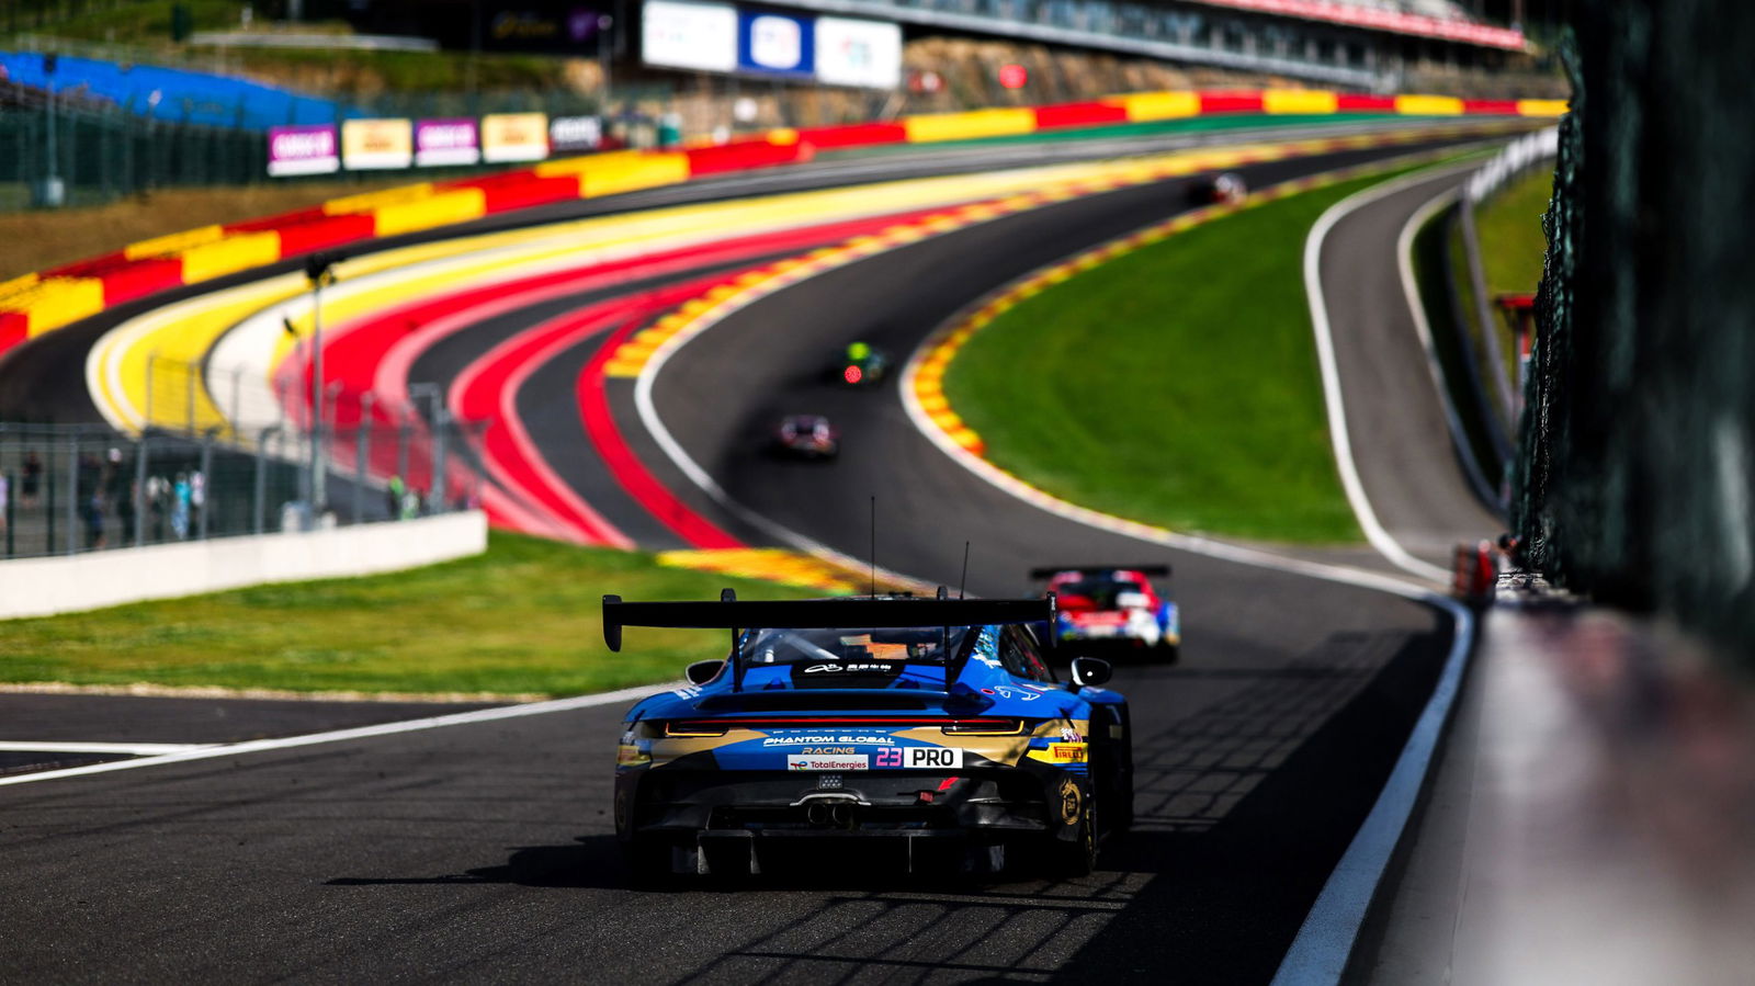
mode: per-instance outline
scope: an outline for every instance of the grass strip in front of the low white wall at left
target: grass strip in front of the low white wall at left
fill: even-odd
[[[611,654],[604,593],[706,600],[723,586],[821,595],[495,532],[486,554],[426,568],[7,621],[0,681],[579,695],[679,679],[725,653],[725,632],[634,628]]]

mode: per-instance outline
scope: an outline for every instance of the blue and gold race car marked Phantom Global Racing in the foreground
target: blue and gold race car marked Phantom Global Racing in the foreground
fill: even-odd
[[[770,854],[860,839],[911,872],[1035,856],[1088,874],[1132,823],[1127,700],[1109,665],[1055,681],[1032,623],[1053,598],[621,602],[623,626],[727,628],[725,660],[628,712],[616,835],[635,870],[760,874]],[[867,849],[870,851],[870,849]]]

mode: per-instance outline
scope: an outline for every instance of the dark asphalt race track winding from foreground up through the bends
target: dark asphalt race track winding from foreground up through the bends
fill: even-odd
[[[1406,151],[1246,177],[1262,186]],[[1265,981],[1425,702],[1448,619],[1076,526],[956,467],[893,386],[820,379],[849,339],[900,358],[971,298],[1181,202],[1178,182],[1095,195],[804,281],[684,346],[655,395],[721,486],[807,537],[863,556],[876,495],[878,561],[893,570],[955,582],[965,539],[969,588],[983,595],[1020,591],[1041,563],[1176,567],[1185,658],[1118,674],[1135,718],[1139,825],[1106,847],[1099,874],[971,886],[825,858],[751,886],[634,888],[607,816],[612,705],[0,788],[0,979]],[[484,323],[419,374],[448,379],[551,314]],[[758,332],[770,325],[788,332]],[[63,360],[77,349],[67,335]],[[534,379],[570,393],[593,347]],[[614,381],[611,404],[648,467],[744,532],[634,435],[630,389]],[[842,423],[837,463],[755,453],[790,409]],[[588,454],[560,421],[534,432],[551,461]]]

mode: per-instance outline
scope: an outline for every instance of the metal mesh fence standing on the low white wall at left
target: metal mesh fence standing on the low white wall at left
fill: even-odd
[[[481,502],[486,428],[451,419],[437,388],[418,395],[432,398],[423,409],[330,388],[314,425],[293,381],[168,360],[153,360],[147,377],[139,430],[0,423],[0,558],[412,519]],[[218,412],[226,398],[237,416]]]

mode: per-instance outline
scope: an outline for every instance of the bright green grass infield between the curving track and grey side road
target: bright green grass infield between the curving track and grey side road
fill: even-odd
[[[946,397],[1000,468],[1179,532],[1341,544],[1341,491],[1304,295],[1306,191],[1178,233],[1042,291],[978,332]]]

